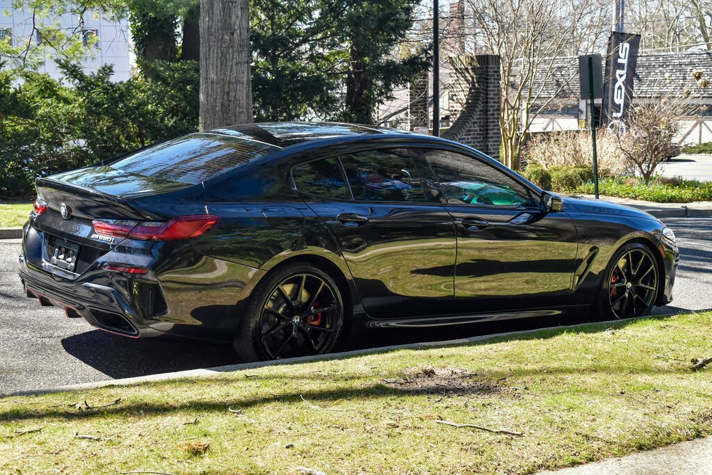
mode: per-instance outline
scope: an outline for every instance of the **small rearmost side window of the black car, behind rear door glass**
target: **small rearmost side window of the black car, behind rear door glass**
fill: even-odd
[[[344,175],[336,158],[316,160],[292,169],[298,191],[318,197],[351,199]]]

